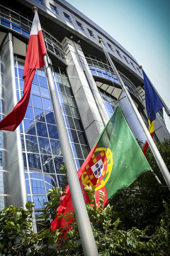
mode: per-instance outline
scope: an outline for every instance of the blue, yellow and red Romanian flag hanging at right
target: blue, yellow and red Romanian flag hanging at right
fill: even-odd
[[[148,116],[148,122],[149,122],[149,133],[150,135],[154,136],[154,120],[156,119],[156,113],[161,110],[163,107],[163,104],[161,100],[159,99],[157,93],[155,92],[151,82],[149,81],[149,78],[144,74],[144,88],[145,88],[145,103],[146,103],[146,112]],[[146,150],[148,148],[148,142],[146,141],[143,153],[146,157]]]

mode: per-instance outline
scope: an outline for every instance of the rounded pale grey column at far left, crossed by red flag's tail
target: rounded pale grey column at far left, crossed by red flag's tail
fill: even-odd
[[[17,103],[12,34],[5,35],[1,45],[2,61],[2,108],[6,116]],[[7,205],[25,208],[27,202],[24,161],[20,127],[14,132],[3,131],[4,169]]]

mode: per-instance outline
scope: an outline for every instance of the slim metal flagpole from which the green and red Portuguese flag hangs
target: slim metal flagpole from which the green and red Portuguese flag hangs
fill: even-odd
[[[155,157],[155,160],[156,160],[156,162],[157,162],[157,164],[158,164],[158,166],[159,166],[159,168],[160,168],[160,170],[161,170],[161,173],[162,173],[162,175],[163,175],[163,177],[164,177],[164,179],[165,179],[165,181],[166,181],[166,183],[167,183],[167,186],[168,186],[168,188],[170,188],[170,173],[169,173],[169,171],[168,171],[168,169],[167,169],[167,166],[165,165],[165,163],[164,163],[164,161],[163,161],[163,159],[162,159],[162,157],[161,157],[161,155],[160,155],[160,153],[159,153],[159,151],[158,151],[158,149],[157,149],[157,147],[156,147],[156,145],[155,145],[155,143],[154,143],[152,137],[150,136],[150,133],[149,133],[149,131],[148,131],[148,129],[147,129],[147,127],[146,127],[146,125],[145,125],[145,123],[144,123],[144,121],[143,121],[141,115],[139,114],[138,109],[137,109],[137,107],[135,106],[135,104],[134,104],[134,102],[133,102],[133,100],[132,100],[132,98],[131,98],[131,96],[130,96],[130,93],[129,93],[128,90],[126,89],[126,86],[124,85],[124,82],[123,82],[123,80],[121,79],[119,72],[117,71],[116,67],[114,66],[114,63],[113,63],[113,61],[111,60],[111,58],[110,58],[108,52],[105,50],[104,45],[103,45],[103,40],[100,39],[100,40],[99,40],[99,43],[101,43],[102,48],[103,48],[103,50],[104,50],[106,56],[108,57],[108,60],[109,60],[109,62],[110,62],[110,65],[111,65],[111,67],[113,68],[113,70],[114,70],[114,72],[115,72],[115,74],[116,74],[116,76],[117,76],[117,79],[118,79],[119,82],[120,82],[120,85],[121,85],[121,87],[122,87],[122,89],[123,89],[123,91],[124,91],[124,93],[125,93],[125,95],[126,95],[128,101],[129,101],[129,103],[130,103],[130,105],[131,105],[131,107],[132,107],[132,110],[133,110],[133,112],[134,112],[134,114],[135,114],[135,116],[136,116],[136,118],[137,118],[137,120],[138,120],[138,122],[139,122],[139,125],[140,125],[141,128],[142,128],[142,131],[144,132],[144,135],[145,135],[145,137],[146,137],[146,139],[147,139],[147,141],[148,141],[148,144],[149,144],[149,146],[150,146],[150,149],[152,150],[152,153],[153,153],[153,155],[154,155],[154,157]],[[170,190],[170,189],[169,189],[169,190]]]

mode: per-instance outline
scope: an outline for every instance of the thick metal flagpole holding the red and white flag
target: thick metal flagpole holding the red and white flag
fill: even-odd
[[[33,7],[32,10],[35,13],[38,9],[37,7]],[[54,116],[55,116],[56,125],[57,125],[57,131],[60,138],[60,145],[62,149],[64,163],[66,164],[66,167],[67,167],[68,184],[70,187],[70,192],[71,192],[73,207],[76,215],[77,225],[79,228],[79,234],[81,238],[83,252],[85,256],[99,256],[97,247],[96,247],[96,242],[93,236],[89,216],[86,210],[84,197],[80,187],[79,178],[77,175],[77,170],[75,167],[71,147],[68,141],[68,135],[67,135],[64,120],[62,117],[62,112],[60,109],[57,93],[56,93],[56,87],[54,84],[54,80],[53,80],[53,76],[50,68],[51,66],[50,59],[47,54],[44,54],[43,58],[44,58],[44,66],[46,70]]]

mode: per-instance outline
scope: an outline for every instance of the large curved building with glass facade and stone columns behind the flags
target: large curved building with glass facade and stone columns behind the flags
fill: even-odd
[[[0,2],[0,114],[7,115],[23,95],[24,60],[34,13],[38,15],[77,170],[95,144],[117,102],[136,138],[145,141],[138,121],[98,42],[114,61],[146,126],[143,75],[138,62],[108,33],[65,0]],[[155,139],[169,138],[163,112],[156,114]],[[0,207],[37,211],[48,189],[60,186],[62,150],[44,68],[36,70],[26,115],[16,131],[0,131]]]

